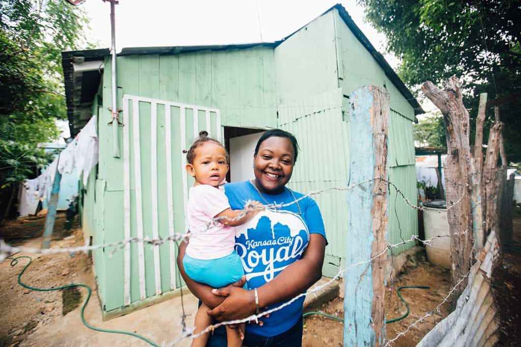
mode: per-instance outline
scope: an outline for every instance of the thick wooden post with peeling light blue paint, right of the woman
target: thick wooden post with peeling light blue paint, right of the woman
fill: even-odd
[[[387,178],[389,93],[365,86],[350,103],[349,184]],[[345,273],[344,346],[381,346],[385,340],[387,188],[373,179],[348,190],[346,264],[376,258]]]

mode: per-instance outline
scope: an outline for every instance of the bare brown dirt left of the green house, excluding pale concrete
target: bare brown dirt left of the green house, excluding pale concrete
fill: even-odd
[[[28,216],[6,222],[0,229],[0,237],[5,237],[14,246],[41,247],[45,215]],[[79,246],[83,243],[80,229],[65,230],[65,214],[58,214],[53,234],[53,247]],[[13,258],[22,254],[14,254]],[[23,254],[26,255],[26,254]],[[86,254],[59,253],[52,256],[30,255],[32,263],[22,275],[22,282],[38,288],[53,288],[71,282],[84,281],[92,277],[91,261]],[[0,346],[15,346],[29,336],[37,327],[43,327],[52,320],[70,312],[80,304],[78,295],[71,291],[32,291],[17,282],[28,259],[20,259],[15,266],[6,259],[0,263]],[[64,295],[65,300],[62,296]],[[69,299],[70,297],[70,299]],[[65,310],[64,310],[65,309]]]

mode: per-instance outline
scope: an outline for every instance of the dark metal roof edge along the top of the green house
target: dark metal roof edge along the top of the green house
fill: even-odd
[[[344,23],[348,26],[348,28],[353,32],[357,40],[368,50],[368,52],[375,58],[378,62],[378,65],[383,69],[386,76],[389,80],[398,88],[400,93],[407,99],[409,104],[414,109],[414,114],[425,113],[425,111],[421,108],[416,98],[413,96],[411,91],[405,86],[403,81],[400,79],[398,74],[394,72],[389,63],[383,58],[383,56],[378,53],[375,47],[369,42],[368,38],[364,35],[364,33],[357,27],[355,22],[351,19],[348,12],[341,4],[336,4],[325,11],[318,17],[324,16],[328,12],[333,9],[337,9],[340,17],[344,21]],[[317,17],[317,18],[318,18]],[[316,18],[315,18],[316,19]],[[315,20],[313,19],[313,20]],[[310,21],[309,23],[313,22]],[[309,23],[304,25],[302,28],[306,27]],[[189,53],[189,52],[197,52],[200,50],[227,50],[227,49],[246,49],[255,46],[265,46],[265,47],[277,47],[284,41],[288,40],[293,34],[300,31],[302,28],[294,31],[290,35],[282,38],[280,41],[275,42],[258,42],[258,43],[243,43],[243,44],[225,44],[225,45],[199,45],[199,46],[164,46],[164,47],[129,47],[121,49],[121,52],[118,56],[127,56],[127,55],[145,55],[145,54],[180,54],[180,53]],[[89,97],[91,97],[90,101],[92,101],[94,95],[97,92],[97,88],[101,81],[101,72],[89,71],[86,73],[82,73],[81,76],[76,76],[73,70],[73,60],[78,57],[83,58],[85,61],[92,60],[100,60],[104,59],[106,56],[110,54],[108,48],[103,49],[87,49],[87,50],[76,50],[69,52],[62,52],[62,66],[64,69],[64,79],[65,79],[65,94],[66,94],[66,102],[67,102],[67,116],[69,118],[69,127],[71,131],[71,136],[75,136],[80,130],[81,127],[86,123],[87,120],[79,120],[79,113],[81,110],[79,107],[85,111],[85,108],[88,107],[88,101],[83,101]],[[81,87],[77,84],[81,83]],[[77,85],[75,88],[75,84]],[[84,90],[89,89],[89,90]],[[82,106],[80,106],[80,104]],[[92,102],[91,102],[92,105]],[[85,118],[85,116],[83,116]]]

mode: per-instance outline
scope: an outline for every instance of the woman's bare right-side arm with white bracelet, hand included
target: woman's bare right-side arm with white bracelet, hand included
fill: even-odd
[[[259,307],[287,301],[311,287],[322,276],[325,250],[326,239],[320,234],[311,234],[302,258],[257,289]],[[221,322],[242,319],[255,313],[253,290],[226,287],[214,290],[214,293],[226,297],[222,304],[208,312]]]

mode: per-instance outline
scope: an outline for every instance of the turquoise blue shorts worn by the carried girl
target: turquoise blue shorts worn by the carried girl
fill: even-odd
[[[244,275],[241,258],[235,251],[222,258],[210,260],[195,259],[185,254],[183,266],[188,277],[212,288],[226,287]]]

